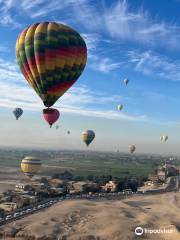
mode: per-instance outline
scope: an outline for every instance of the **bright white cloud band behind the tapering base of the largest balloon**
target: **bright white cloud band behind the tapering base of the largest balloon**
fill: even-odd
[[[63,95],[56,107],[62,112],[101,117],[106,119],[122,119],[128,121],[144,121],[145,116],[131,116],[112,110],[105,110],[108,103],[116,104],[123,97],[107,93],[91,91],[87,86],[71,88]],[[94,107],[89,107],[93,105]],[[0,59],[0,106],[6,108],[22,107],[39,111],[44,108],[40,98],[23,79],[15,63]]]

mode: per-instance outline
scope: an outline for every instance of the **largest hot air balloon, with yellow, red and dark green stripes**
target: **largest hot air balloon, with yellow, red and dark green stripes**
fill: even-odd
[[[20,69],[42,99],[51,107],[79,78],[87,60],[85,41],[69,26],[36,23],[16,41]]]

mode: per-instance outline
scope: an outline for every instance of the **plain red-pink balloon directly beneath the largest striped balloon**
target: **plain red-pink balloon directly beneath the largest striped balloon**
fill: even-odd
[[[58,120],[60,113],[57,109],[46,108],[43,109],[43,116],[44,119],[49,123],[50,127],[52,127],[53,123]]]

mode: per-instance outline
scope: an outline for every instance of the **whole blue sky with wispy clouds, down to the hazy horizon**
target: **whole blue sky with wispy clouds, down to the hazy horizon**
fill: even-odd
[[[180,153],[179,12],[179,0],[0,0],[0,145],[85,149],[80,132],[94,129],[92,150],[136,144],[137,152]],[[55,104],[59,130],[43,121],[43,104],[15,58],[18,34],[42,21],[70,25],[88,46],[82,76]],[[18,122],[17,106],[24,109]]]

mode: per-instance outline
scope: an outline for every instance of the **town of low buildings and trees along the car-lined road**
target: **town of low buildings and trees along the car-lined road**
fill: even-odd
[[[161,161],[155,174],[147,177],[117,177],[112,175],[74,176],[65,170],[51,177],[22,181],[14,189],[0,196],[0,224],[33,210],[50,206],[57,199],[101,198],[143,194],[166,189],[172,178],[179,176],[180,168],[173,159]],[[179,181],[179,180],[178,180]],[[176,184],[178,184],[178,181]],[[177,189],[176,186],[174,189]]]

